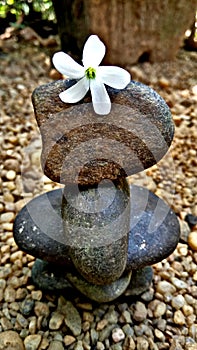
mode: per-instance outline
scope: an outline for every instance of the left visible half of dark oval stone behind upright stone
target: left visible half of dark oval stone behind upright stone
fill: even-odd
[[[61,217],[62,196],[58,189],[27,203],[15,218],[13,233],[17,245],[26,253],[70,267]]]

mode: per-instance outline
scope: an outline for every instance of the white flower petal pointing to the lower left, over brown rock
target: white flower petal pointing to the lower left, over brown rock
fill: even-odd
[[[59,94],[60,99],[65,103],[75,103],[85,96],[89,90],[89,80],[84,77],[75,85]]]

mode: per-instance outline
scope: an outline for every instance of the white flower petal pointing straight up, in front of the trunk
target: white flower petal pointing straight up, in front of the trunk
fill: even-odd
[[[97,35],[91,35],[86,41],[83,49],[83,65],[87,69],[89,67],[96,68],[105,56],[105,45]]]

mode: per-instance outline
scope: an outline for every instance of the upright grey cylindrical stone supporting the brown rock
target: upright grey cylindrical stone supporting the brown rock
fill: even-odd
[[[127,263],[129,185],[122,179],[75,191],[66,187],[62,213],[65,240],[77,271],[89,282],[111,284]]]

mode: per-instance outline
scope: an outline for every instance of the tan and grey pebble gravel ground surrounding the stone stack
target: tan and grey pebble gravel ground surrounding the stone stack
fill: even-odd
[[[0,65],[0,350],[197,349],[197,53],[174,62],[128,67],[170,106],[173,144],[157,166],[131,178],[176,212],[181,240],[153,266],[151,288],[138,299],[122,296],[98,305],[77,293],[53,295],[31,281],[34,258],[16,246],[13,220],[25,202],[57,188],[40,168],[41,142],[31,93],[51,81],[49,51],[5,41]],[[188,215],[192,214],[192,215]]]

